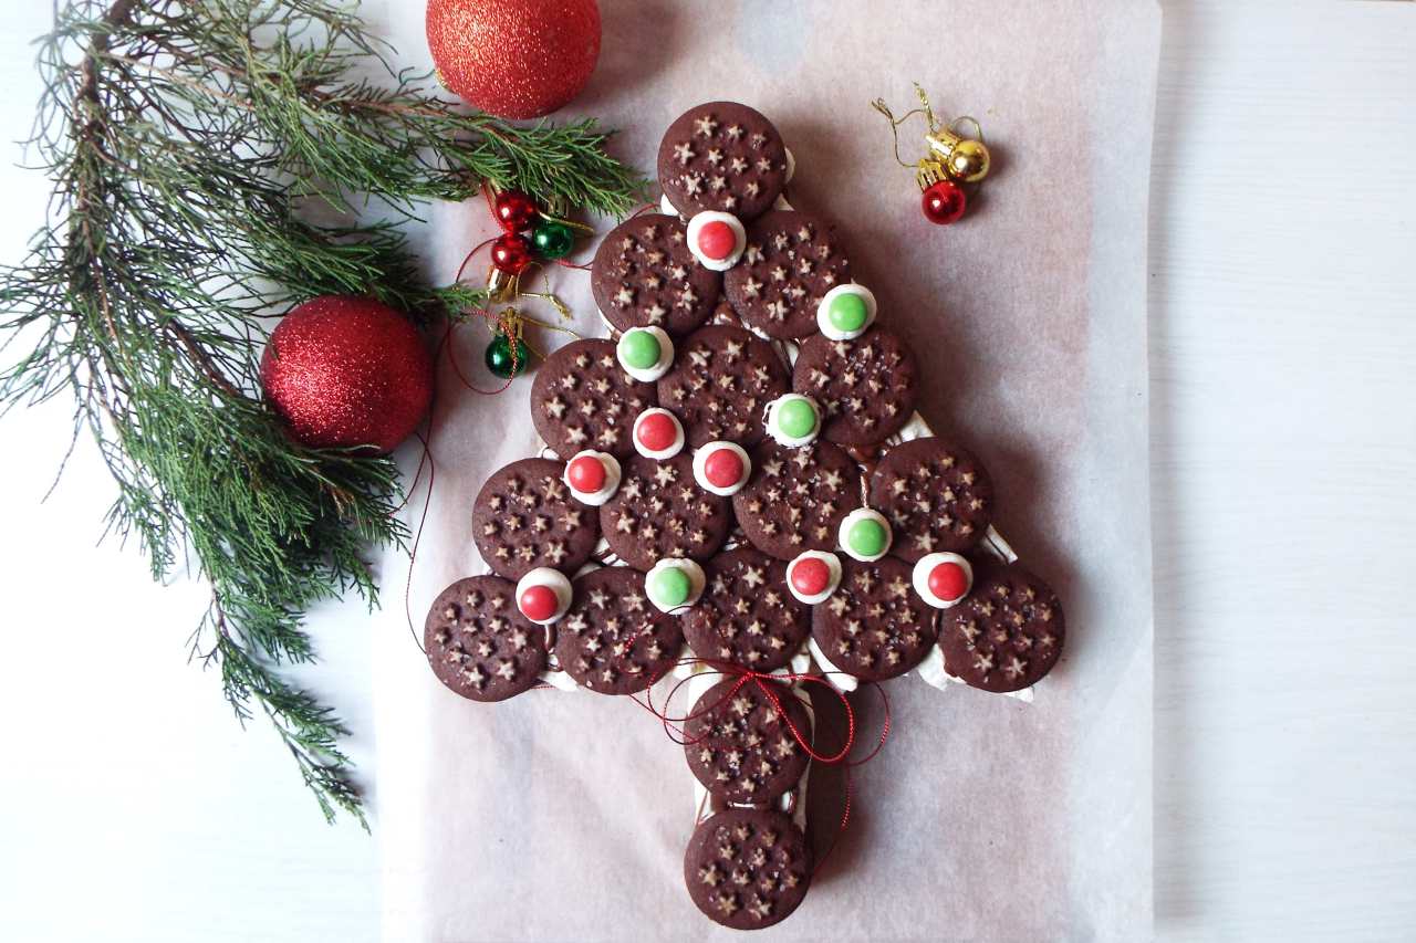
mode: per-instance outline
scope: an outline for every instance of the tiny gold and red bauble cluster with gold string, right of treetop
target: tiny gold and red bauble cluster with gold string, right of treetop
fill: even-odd
[[[978,120],[964,115],[947,125],[940,125],[935,118],[935,110],[929,106],[929,96],[918,84],[915,93],[919,96],[919,108],[912,109],[899,118],[885,105],[885,99],[875,99],[871,106],[889,122],[891,135],[895,139],[895,160],[901,167],[915,168],[915,183],[919,184],[920,210],[925,218],[942,227],[957,222],[964,215],[969,205],[969,187],[976,185],[988,176],[990,156],[988,146],[983,143],[983,127]],[[899,126],[913,118],[923,115],[929,130],[925,133],[925,143],[929,153],[918,163],[909,164],[899,156]],[[973,126],[973,136],[960,133],[961,126]]]

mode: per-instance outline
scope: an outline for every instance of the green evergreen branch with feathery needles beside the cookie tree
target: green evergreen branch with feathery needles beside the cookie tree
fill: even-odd
[[[314,658],[312,603],[374,603],[364,554],[405,539],[399,483],[387,457],[286,438],[259,399],[265,319],[326,293],[456,313],[484,299],[418,278],[398,221],[422,202],[487,181],[622,215],[641,180],[590,120],[443,101],[326,0],[75,0],[38,64],[30,143],[54,195],[0,269],[4,348],[27,348],[0,401],[74,396],[118,484],[109,528],[154,578],[194,556],[211,583],[194,654],[242,722],[270,718],[326,817],[362,823],[344,728],[280,668]],[[384,221],[360,221],[371,201]]]

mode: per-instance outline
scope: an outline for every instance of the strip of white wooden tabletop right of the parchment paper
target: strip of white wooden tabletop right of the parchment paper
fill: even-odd
[[[1416,4],[1165,13],[1157,923],[1412,940]]]

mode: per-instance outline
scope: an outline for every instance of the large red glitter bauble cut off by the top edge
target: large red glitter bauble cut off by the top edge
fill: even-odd
[[[539,118],[585,88],[600,55],[595,0],[429,0],[442,84],[498,118]]]

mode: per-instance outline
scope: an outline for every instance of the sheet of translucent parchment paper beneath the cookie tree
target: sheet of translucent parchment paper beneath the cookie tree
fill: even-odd
[[[855,777],[850,827],[800,910],[753,939],[1148,936],[1144,265],[1160,11],[1120,0],[600,7],[599,69],[565,115],[623,129],[615,152],[651,176],[663,130],[690,105],[738,99],[766,113],[797,159],[793,204],[841,227],[882,323],[920,355],[920,412],[980,453],[998,530],[1068,615],[1068,650],[1034,704],[913,675],[888,684],[892,736]],[[426,64],[422,4],[391,3],[388,18],[401,59]],[[869,109],[875,96],[910,108],[910,81],[942,116],[978,118],[993,149],[980,198],[949,228],[922,218],[912,171],[895,164]],[[908,160],[922,153],[919,133],[905,129]],[[490,231],[480,204],[438,207],[423,242],[430,273],[450,279]],[[554,279],[576,330],[602,334],[588,275]],[[486,341],[472,327],[456,351],[494,387]],[[486,572],[472,501],[487,474],[538,447],[530,387],[477,396],[440,365],[436,491],[409,589],[419,633],[439,589]],[[401,457],[411,469],[415,455]],[[415,522],[419,510],[421,494]],[[406,559],[382,572],[374,808],[385,936],[731,936],[684,891],[692,779],[660,725],[590,692],[457,698],[409,637]],[[879,711],[857,698],[874,732]],[[811,796],[817,841],[830,844],[840,783],[813,780]]]

